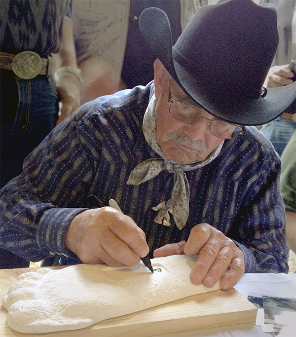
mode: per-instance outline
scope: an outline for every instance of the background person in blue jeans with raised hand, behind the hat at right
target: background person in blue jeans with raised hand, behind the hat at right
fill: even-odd
[[[272,3],[276,6],[280,38],[264,86],[276,88],[289,85],[296,79],[296,0],[261,0],[260,3]],[[295,65],[291,67],[292,60]],[[262,134],[270,140],[279,156],[295,130],[296,99],[278,118],[261,128]]]

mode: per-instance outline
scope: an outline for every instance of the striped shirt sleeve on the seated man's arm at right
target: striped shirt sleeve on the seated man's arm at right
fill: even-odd
[[[257,152],[255,155],[259,155]],[[288,272],[285,208],[279,188],[280,159],[269,148],[254,161],[229,237],[242,250],[245,272]]]

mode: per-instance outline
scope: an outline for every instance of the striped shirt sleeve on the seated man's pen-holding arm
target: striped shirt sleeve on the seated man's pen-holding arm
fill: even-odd
[[[56,127],[25,159],[22,174],[1,189],[1,248],[28,261],[56,252],[76,257],[65,236],[75,215],[87,209],[80,206],[93,177],[78,125],[71,116]]]

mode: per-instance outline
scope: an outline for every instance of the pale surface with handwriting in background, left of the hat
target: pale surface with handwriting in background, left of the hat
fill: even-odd
[[[98,56],[121,71],[128,29],[129,0],[73,0],[77,60]]]

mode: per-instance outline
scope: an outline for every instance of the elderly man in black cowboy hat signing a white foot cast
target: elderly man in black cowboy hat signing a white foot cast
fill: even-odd
[[[295,84],[261,89],[278,40],[274,7],[202,7],[174,47],[162,10],[146,9],[140,24],[154,82],[85,104],[27,157],[1,190],[1,247],[111,266],[198,254],[191,282],[223,289],[244,272],[287,272],[280,160],[244,127],[295,97]]]

